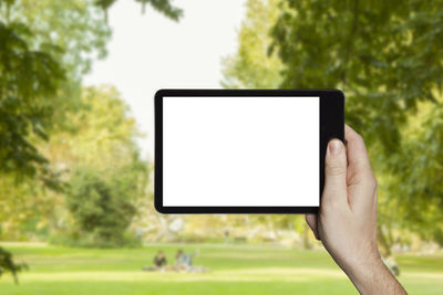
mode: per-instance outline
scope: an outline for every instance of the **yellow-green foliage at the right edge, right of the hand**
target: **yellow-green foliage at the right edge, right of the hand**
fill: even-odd
[[[415,118],[420,124],[408,129],[412,136],[404,140],[401,154],[390,159],[399,175],[392,186],[408,186],[392,190],[402,196],[395,203],[403,223],[443,245],[443,103],[426,104],[421,113],[422,118]]]

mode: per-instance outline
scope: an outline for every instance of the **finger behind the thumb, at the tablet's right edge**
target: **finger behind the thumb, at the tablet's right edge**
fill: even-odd
[[[372,173],[363,138],[348,125],[344,125],[344,138],[348,146],[349,166],[354,167],[360,173]]]

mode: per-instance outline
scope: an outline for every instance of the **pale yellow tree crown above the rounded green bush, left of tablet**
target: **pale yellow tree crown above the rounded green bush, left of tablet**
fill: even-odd
[[[138,152],[135,139],[142,134],[113,86],[83,87],[76,107],[64,114],[64,120],[65,128],[40,146],[59,169],[119,167]]]

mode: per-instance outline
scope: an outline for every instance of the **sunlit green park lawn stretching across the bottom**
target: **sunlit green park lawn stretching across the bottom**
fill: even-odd
[[[143,249],[66,249],[40,244],[3,244],[28,272],[16,286],[0,278],[1,295],[28,294],[357,294],[324,251],[218,244],[157,244]],[[177,249],[199,249],[204,274],[147,273],[158,249],[168,262]],[[400,281],[410,294],[443,294],[443,253],[401,255]]]

